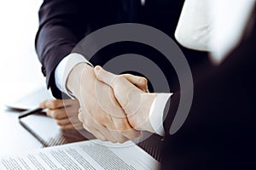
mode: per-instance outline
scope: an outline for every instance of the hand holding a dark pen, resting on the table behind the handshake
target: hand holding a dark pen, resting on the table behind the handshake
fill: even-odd
[[[79,122],[79,102],[73,99],[47,99],[40,103],[42,109],[48,109],[47,116],[55,119],[62,129],[83,129]]]

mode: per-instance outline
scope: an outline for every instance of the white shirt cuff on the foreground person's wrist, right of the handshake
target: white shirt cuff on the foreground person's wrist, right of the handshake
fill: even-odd
[[[166,107],[166,103],[172,94],[158,94],[149,111],[149,122],[154,129],[154,132],[160,136],[165,135],[163,127],[163,115]]]

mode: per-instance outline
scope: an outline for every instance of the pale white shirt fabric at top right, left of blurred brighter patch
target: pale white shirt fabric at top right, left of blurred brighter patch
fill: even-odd
[[[177,23],[175,38],[186,48],[208,51],[211,18],[207,0],[186,0]]]

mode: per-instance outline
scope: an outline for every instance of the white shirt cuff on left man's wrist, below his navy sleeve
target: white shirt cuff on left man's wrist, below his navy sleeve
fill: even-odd
[[[73,96],[67,89],[67,77],[70,71],[73,70],[73,67],[75,65],[78,65],[79,63],[87,63],[91,65],[90,62],[84,58],[83,55],[73,53],[67,55],[67,57],[62,59],[55,69],[56,87],[59,88],[61,92],[67,94],[71,98],[73,98]]]

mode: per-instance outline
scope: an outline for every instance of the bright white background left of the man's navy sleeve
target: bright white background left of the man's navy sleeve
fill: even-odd
[[[34,48],[42,2],[0,1],[0,105],[45,85]]]

